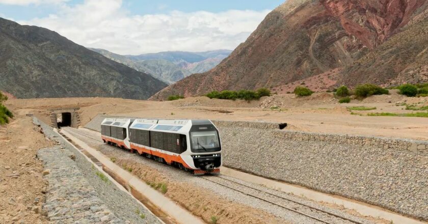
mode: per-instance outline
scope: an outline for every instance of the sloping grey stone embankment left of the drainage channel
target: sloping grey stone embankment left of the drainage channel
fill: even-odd
[[[61,223],[162,223],[119,189],[81,152],[53,129],[33,119],[57,146],[41,149],[48,181],[44,209],[50,221]],[[137,212],[138,211],[138,212]]]

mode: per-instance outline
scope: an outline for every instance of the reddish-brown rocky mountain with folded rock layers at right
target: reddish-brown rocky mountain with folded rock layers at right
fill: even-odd
[[[426,0],[288,0],[216,68],[154,95],[428,80]],[[195,85],[198,83],[198,85]]]

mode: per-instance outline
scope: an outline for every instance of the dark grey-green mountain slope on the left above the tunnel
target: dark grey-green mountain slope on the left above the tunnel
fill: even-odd
[[[0,18],[0,90],[18,98],[147,99],[167,84],[58,33]]]

